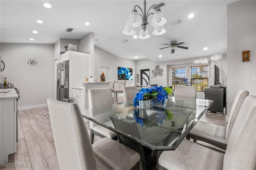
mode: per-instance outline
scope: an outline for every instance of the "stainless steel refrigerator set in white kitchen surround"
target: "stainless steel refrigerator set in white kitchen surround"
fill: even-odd
[[[57,64],[57,100],[69,98],[69,62],[62,61]]]

